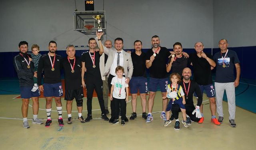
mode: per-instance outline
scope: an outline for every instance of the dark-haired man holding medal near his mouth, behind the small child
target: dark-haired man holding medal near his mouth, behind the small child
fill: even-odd
[[[182,70],[188,66],[188,58],[182,55],[182,44],[180,42],[173,44],[173,51],[175,55],[169,58],[166,71],[170,72],[172,69],[172,73],[177,72],[182,76]]]

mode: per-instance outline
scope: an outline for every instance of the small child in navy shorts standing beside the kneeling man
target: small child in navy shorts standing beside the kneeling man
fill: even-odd
[[[188,124],[186,121],[186,109],[184,105],[186,104],[185,96],[184,96],[185,94],[182,90],[182,87],[178,84],[181,81],[180,75],[178,73],[172,73],[170,75],[170,81],[171,81],[171,84],[168,84],[166,96],[163,97],[163,99],[165,99],[166,97],[170,98],[170,101],[166,108],[166,121],[164,122],[164,126],[168,126],[172,122],[171,120],[169,120],[170,110],[172,110],[172,104],[178,104],[182,112],[182,117],[183,117],[182,124],[184,124],[185,128],[188,128]]]

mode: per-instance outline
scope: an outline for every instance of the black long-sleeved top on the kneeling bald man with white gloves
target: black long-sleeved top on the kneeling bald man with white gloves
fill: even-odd
[[[184,88],[184,84],[185,84],[186,90]],[[183,84],[183,81],[180,82],[182,90],[185,93],[185,101],[186,101],[185,107],[186,107],[186,105],[187,106],[190,106],[190,105],[194,106],[194,102],[193,102],[194,92],[196,92],[196,95],[198,96],[197,106],[201,106],[203,98],[202,98],[202,93],[201,93],[201,90],[200,90],[198,84],[194,80],[190,80],[189,90],[188,90],[189,83],[184,82],[184,84]],[[186,91],[188,92],[188,95],[186,95]]]

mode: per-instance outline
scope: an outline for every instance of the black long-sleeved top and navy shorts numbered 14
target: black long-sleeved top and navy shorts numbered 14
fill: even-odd
[[[54,69],[52,68],[52,63],[54,63]],[[37,69],[37,81],[38,85],[42,85],[42,71],[44,71],[44,96],[45,97],[61,97],[63,95],[61,78],[60,78],[60,63],[61,56],[55,55],[50,56],[48,54],[44,54],[38,62]]]

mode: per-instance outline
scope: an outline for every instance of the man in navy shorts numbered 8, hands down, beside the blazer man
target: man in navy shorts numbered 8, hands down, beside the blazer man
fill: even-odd
[[[147,119],[146,114],[146,93],[148,92],[147,76],[146,76],[146,54],[141,51],[142,42],[140,40],[134,41],[135,52],[131,54],[133,73],[130,80],[130,93],[132,94],[132,116],[130,120],[134,120],[137,117],[136,106],[138,89],[140,90],[140,99],[142,106],[142,118]]]

